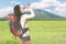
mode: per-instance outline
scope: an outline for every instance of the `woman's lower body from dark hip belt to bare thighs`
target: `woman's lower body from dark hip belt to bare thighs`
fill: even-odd
[[[23,31],[23,35],[21,37],[21,44],[31,44],[31,38],[30,38],[30,34],[29,34],[29,30],[28,29],[24,29]]]

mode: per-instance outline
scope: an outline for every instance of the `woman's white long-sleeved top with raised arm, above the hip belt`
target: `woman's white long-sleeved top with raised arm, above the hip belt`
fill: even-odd
[[[29,10],[30,10],[31,14],[23,14],[23,15],[21,16],[20,23],[21,23],[22,29],[25,28],[26,19],[31,19],[31,18],[34,18],[34,16],[35,16],[33,10],[32,10],[31,8],[30,8]]]

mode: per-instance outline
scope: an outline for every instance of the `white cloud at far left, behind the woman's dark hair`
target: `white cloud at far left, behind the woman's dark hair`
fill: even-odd
[[[12,7],[6,7],[3,9],[0,9],[0,18],[7,16],[9,13],[13,13]]]

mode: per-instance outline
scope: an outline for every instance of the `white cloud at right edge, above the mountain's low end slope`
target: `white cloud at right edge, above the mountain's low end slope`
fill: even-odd
[[[58,7],[56,7],[55,11],[62,15],[62,16],[66,16],[66,2],[59,4]]]

